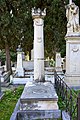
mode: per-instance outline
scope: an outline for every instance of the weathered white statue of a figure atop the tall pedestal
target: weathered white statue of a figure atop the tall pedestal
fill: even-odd
[[[79,7],[75,3],[66,6],[67,32],[79,32]]]

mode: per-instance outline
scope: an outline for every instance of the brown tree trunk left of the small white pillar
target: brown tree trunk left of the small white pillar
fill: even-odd
[[[11,60],[10,60],[10,50],[9,50],[9,45],[7,42],[5,42],[5,52],[6,52],[6,70],[12,72]]]

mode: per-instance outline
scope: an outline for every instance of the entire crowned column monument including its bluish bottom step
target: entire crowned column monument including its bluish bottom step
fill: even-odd
[[[32,9],[34,21],[34,79],[27,82],[20,97],[19,119],[48,119],[60,117],[58,96],[54,84],[45,81],[44,72],[44,17],[46,9]],[[14,118],[12,114],[11,120]]]

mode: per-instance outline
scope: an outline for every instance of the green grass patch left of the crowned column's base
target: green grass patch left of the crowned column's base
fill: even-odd
[[[3,99],[0,101],[0,120],[10,120],[15,105],[21,96],[24,86],[7,90]]]

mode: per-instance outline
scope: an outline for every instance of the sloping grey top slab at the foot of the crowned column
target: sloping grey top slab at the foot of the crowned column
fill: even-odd
[[[58,96],[55,92],[54,86],[50,82],[45,83],[28,82],[21,95],[21,101],[31,99],[57,100]]]

